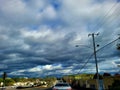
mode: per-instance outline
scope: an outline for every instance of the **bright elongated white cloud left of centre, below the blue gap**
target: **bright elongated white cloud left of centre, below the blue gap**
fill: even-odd
[[[21,34],[25,39],[42,43],[55,43],[61,39],[64,39],[64,32],[55,32],[52,28],[42,27],[37,30],[22,29]]]

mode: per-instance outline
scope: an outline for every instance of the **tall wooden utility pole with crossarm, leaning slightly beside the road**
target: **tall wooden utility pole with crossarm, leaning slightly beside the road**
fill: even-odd
[[[99,73],[98,73],[98,62],[97,62],[96,44],[95,44],[95,35],[99,35],[99,33],[97,33],[97,34],[92,33],[92,34],[89,34],[88,36],[92,36],[92,39],[93,39],[94,58],[95,58],[96,74],[97,74],[97,87],[98,87],[98,90],[100,90]]]

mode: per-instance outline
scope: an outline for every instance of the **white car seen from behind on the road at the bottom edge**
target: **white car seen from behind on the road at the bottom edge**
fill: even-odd
[[[72,90],[68,83],[57,83],[52,90]]]

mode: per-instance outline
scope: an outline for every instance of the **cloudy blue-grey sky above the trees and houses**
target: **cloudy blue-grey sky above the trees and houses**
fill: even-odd
[[[93,33],[99,73],[118,73],[119,8],[120,0],[0,0],[0,75],[96,73]]]

